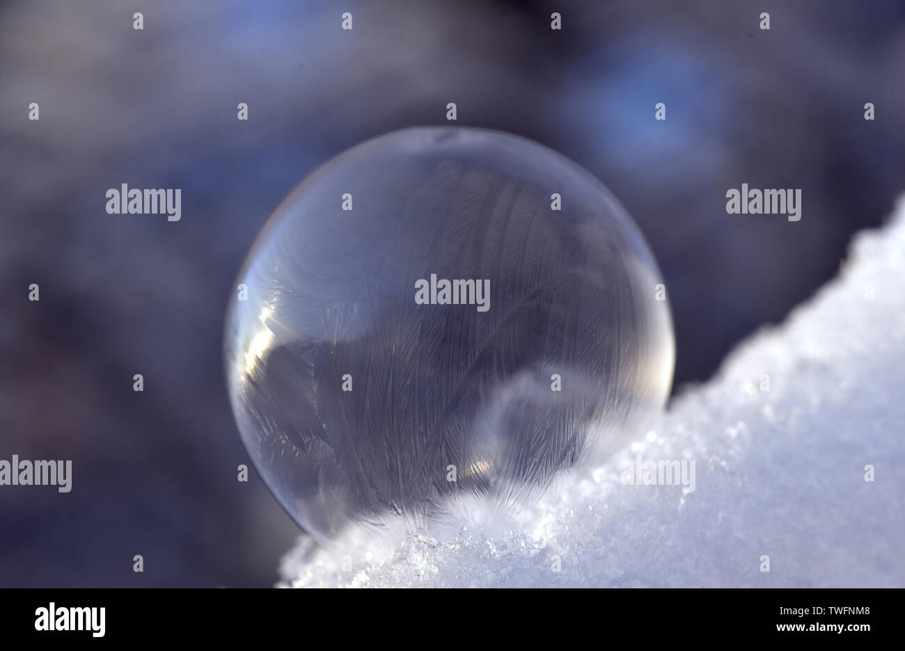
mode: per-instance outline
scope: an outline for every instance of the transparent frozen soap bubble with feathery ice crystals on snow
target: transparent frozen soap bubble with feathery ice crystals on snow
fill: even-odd
[[[546,147],[472,128],[369,140],[281,203],[236,281],[245,447],[321,544],[526,504],[662,409],[660,282],[624,208]]]

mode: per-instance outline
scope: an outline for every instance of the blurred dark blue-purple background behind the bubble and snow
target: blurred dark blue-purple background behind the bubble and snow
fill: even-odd
[[[271,210],[349,146],[452,101],[584,165],[660,263],[681,391],[883,221],[903,81],[901,0],[7,0],[0,458],[72,459],[73,483],[0,487],[0,586],[276,580],[300,530],[236,480],[224,310]],[[182,221],[107,214],[124,183],[181,188]],[[802,220],[728,215],[742,183],[801,188]]]

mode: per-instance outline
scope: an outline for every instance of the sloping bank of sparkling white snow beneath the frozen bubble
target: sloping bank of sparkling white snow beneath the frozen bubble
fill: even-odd
[[[329,553],[302,539],[281,585],[903,587],[903,287],[905,201],[855,238],[841,278],[739,345],[653,435],[550,490],[519,523],[410,537],[382,560],[360,542]],[[623,486],[639,451],[695,459],[695,491]]]

